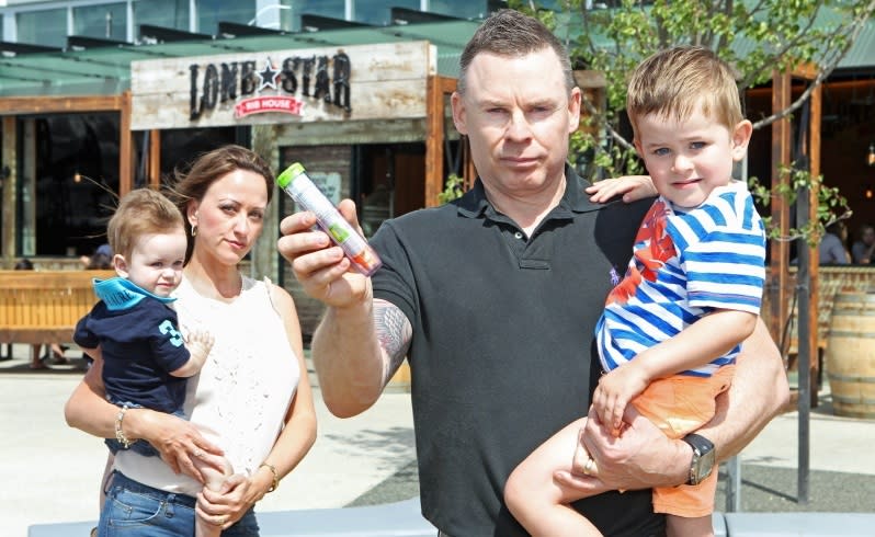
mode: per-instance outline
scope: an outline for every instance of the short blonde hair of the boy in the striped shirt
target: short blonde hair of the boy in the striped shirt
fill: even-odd
[[[632,73],[626,112],[633,130],[647,114],[684,121],[697,107],[730,132],[745,119],[732,69],[712,50],[678,46],[641,61]]]

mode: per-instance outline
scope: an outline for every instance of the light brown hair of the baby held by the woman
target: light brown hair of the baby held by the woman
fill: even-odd
[[[134,243],[147,233],[172,232],[185,229],[182,213],[173,202],[151,188],[130,191],[118,202],[106,226],[106,237],[113,252],[130,260]]]

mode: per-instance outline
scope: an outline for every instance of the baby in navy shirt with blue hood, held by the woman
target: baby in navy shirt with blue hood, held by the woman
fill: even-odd
[[[94,279],[100,301],[77,323],[73,340],[92,357],[103,358],[106,399],[120,407],[115,438],[106,439],[112,454],[132,449],[157,456],[148,443],[125,437],[125,412],[148,408],[184,416],[185,378],[201,370],[213,338],[194,332],[186,343],[171,307],[188,244],[177,206],[159,192],[135,190],[122,198],[106,231],[118,277]],[[213,490],[231,473],[224,457],[205,455],[194,462]],[[221,533],[200,518],[196,526],[198,537]]]

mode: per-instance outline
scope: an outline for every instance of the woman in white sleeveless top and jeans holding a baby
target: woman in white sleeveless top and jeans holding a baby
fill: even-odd
[[[272,193],[270,167],[237,146],[205,153],[178,178],[171,195],[186,219],[189,252],[174,306],[183,331],[206,330],[215,343],[188,382],[191,421],[120,412],[103,399],[100,361],[73,391],[69,425],[103,438],[139,438],[161,454],[118,453],[99,535],[193,535],[196,514],[224,536],[258,536],[252,506],[312,446],[316,414],[292,297],[237,267],[261,235]],[[193,464],[207,453],[234,466],[219,491],[203,488]]]

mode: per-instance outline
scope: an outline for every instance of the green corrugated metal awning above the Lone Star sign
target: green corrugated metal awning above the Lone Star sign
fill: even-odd
[[[410,41],[434,44],[439,75],[456,77],[462,48],[479,25],[480,21],[459,20],[21,54],[0,57],[0,96],[120,94],[130,88],[130,62],[143,59]]]

